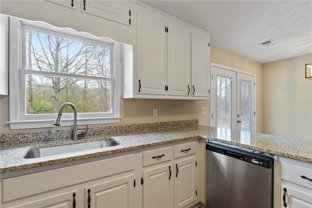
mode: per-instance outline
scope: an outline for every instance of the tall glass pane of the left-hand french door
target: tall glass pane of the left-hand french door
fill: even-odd
[[[232,128],[232,79],[217,76],[217,127]]]

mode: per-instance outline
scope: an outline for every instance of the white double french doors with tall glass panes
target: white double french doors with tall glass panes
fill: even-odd
[[[255,76],[212,63],[211,79],[211,125],[255,132]]]

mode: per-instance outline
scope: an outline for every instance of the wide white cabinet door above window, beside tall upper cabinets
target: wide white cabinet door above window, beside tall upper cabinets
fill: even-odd
[[[130,10],[130,2],[126,0],[81,0],[81,12],[128,26]]]

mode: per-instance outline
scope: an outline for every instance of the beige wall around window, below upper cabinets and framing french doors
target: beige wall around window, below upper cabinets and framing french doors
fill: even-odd
[[[90,32],[101,37],[110,37],[120,42],[136,45],[136,25],[132,27],[116,24],[91,15],[68,9],[47,1],[1,0],[0,12],[29,20],[46,21],[60,27],[71,27],[78,31]],[[134,12],[132,18],[136,19]],[[66,20],[66,21],[65,21]],[[92,24],[90,23],[92,22]],[[97,26],[95,26],[97,25]],[[122,31],[122,32],[120,32]],[[134,47],[134,54],[136,48]],[[135,57],[136,59],[136,57]],[[233,53],[211,47],[211,62],[249,71],[257,75],[257,132],[262,132],[262,75],[261,64],[237,56]],[[210,125],[210,101],[172,101],[172,100],[132,100],[121,99],[121,123],[138,124],[160,121],[176,121],[198,119],[200,125]],[[208,107],[207,114],[200,114],[200,107]],[[158,109],[158,117],[152,116],[153,108]],[[9,120],[9,99],[0,96],[0,133],[30,132],[45,129],[10,130],[6,122]],[[98,125],[94,125],[98,126]],[[54,127],[51,129],[70,128]]]

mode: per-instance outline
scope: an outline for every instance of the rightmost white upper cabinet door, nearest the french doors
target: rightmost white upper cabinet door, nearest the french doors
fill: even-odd
[[[210,97],[210,36],[192,32],[192,96]]]

